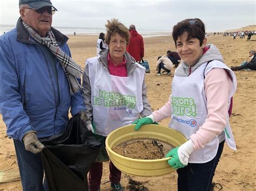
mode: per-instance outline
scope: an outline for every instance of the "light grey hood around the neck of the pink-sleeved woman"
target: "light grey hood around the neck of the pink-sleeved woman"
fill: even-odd
[[[223,56],[220,54],[219,49],[214,46],[213,44],[207,44],[207,47],[209,47],[208,51],[203,54],[203,56],[198,60],[196,65],[191,67],[191,73],[194,72],[199,66],[203,65],[203,63],[212,61],[212,60],[219,60],[224,63]],[[187,65],[186,62],[181,61],[181,65],[178,66],[178,68],[175,70],[175,74],[179,77],[186,77],[189,74],[189,68],[190,66]]]

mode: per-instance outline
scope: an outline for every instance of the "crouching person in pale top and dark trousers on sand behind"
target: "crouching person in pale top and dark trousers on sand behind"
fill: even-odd
[[[161,75],[161,69],[163,69],[164,72],[166,72],[166,75],[170,75],[172,73],[171,72],[172,68],[173,68],[173,64],[167,56],[158,56],[157,65],[156,65],[158,76]]]

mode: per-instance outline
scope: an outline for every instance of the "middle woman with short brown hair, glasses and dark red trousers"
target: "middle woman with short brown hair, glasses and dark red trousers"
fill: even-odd
[[[87,128],[105,145],[106,136],[121,126],[131,124],[138,116],[152,113],[147,101],[145,68],[127,53],[129,30],[118,19],[107,20],[106,44],[109,49],[86,60],[83,74],[83,97]],[[100,190],[103,161],[108,161],[105,146],[89,171],[89,190]],[[121,171],[109,162],[113,190],[123,190]]]

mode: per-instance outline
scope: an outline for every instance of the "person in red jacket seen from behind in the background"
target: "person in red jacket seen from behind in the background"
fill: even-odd
[[[126,51],[139,62],[144,57],[144,42],[143,37],[136,31],[135,25],[130,25],[130,42],[127,46]]]

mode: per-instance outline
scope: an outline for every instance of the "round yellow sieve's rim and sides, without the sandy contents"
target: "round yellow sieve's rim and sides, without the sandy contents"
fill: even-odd
[[[145,138],[169,143],[175,147],[187,141],[180,132],[161,125],[143,125],[138,131],[135,125],[127,125],[112,131],[106,138],[106,150],[110,160],[120,171],[138,176],[158,176],[173,172],[174,169],[168,164],[169,158],[142,160],[124,157],[112,151],[112,147],[130,139]]]

